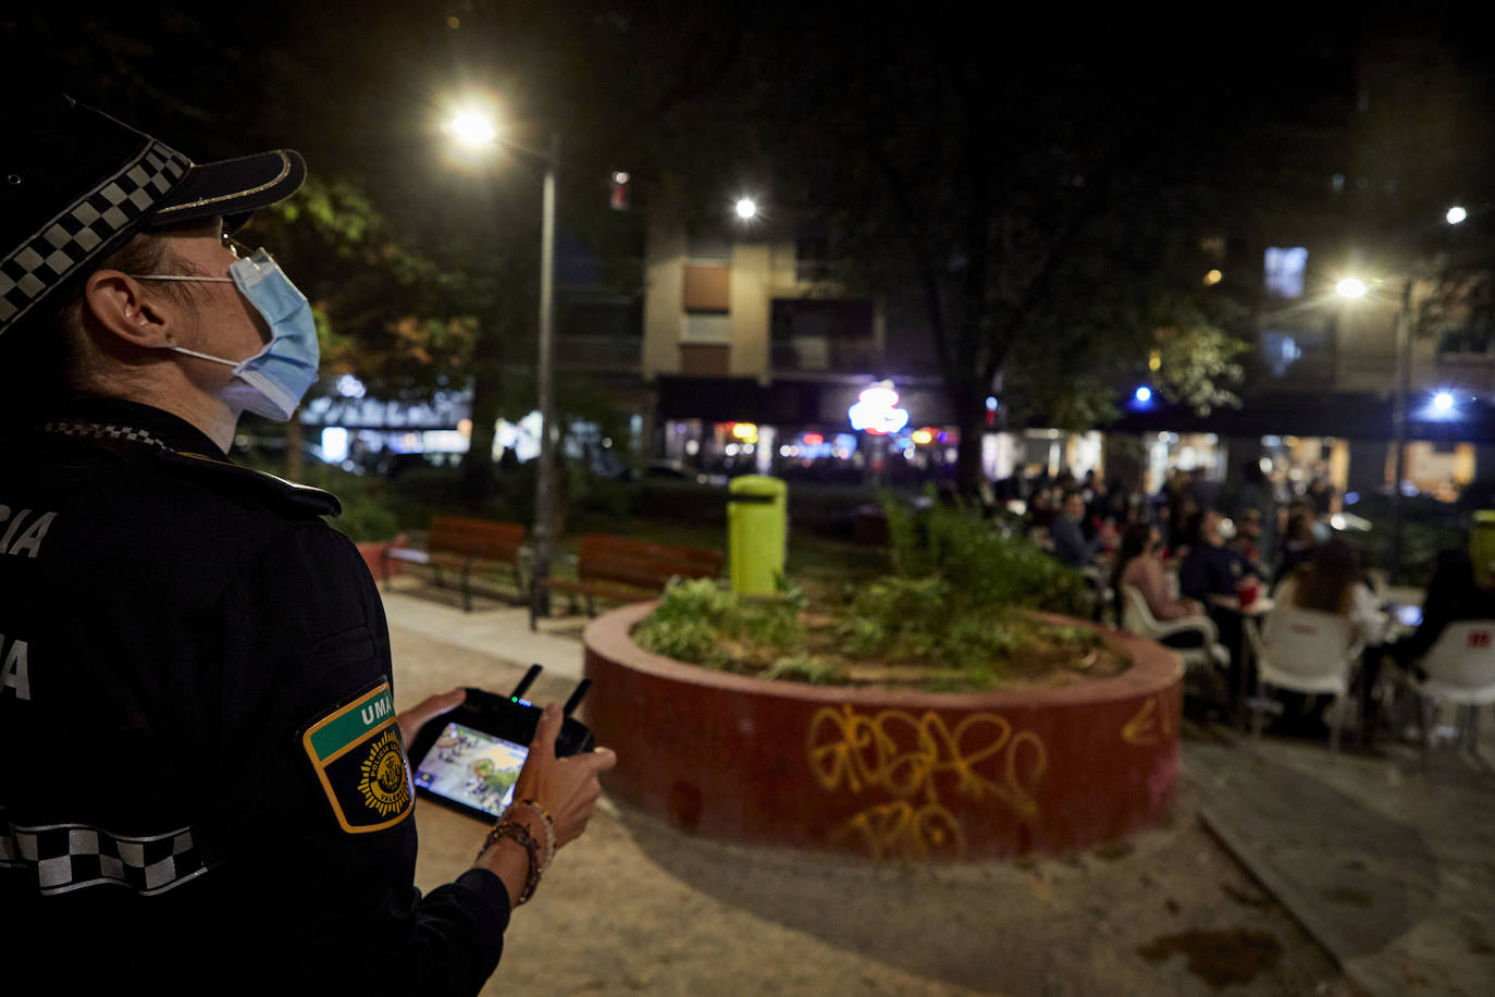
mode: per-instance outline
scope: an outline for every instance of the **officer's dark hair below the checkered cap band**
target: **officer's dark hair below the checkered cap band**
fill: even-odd
[[[18,427],[85,393],[93,369],[84,344],[84,287],[97,271],[121,274],[182,274],[193,269],[178,260],[157,233],[139,232],[84,274],[69,278],[31,314],[0,333],[0,427]],[[151,293],[190,302],[176,281],[152,281]]]

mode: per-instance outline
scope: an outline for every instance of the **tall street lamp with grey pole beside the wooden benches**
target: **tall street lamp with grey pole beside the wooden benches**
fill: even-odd
[[[457,142],[469,148],[481,148],[498,138],[498,127],[492,118],[478,111],[465,111],[451,118],[447,130]],[[507,142],[505,142],[507,143]],[[507,143],[513,145],[513,143]],[[514,146],[519,148],[519,146]],[[528,149],[520,149],[528,151]],[[535,613],[544,614],[550,608],[550,590],[543,584],[535,584],[540,578],[550,577],[550,553],[555,543],[552,537],[552,504],[555,480],[555,248],[556,248],[556,163],[561,158],[561,136],[552,133],[550,152],[541,155],[544,163],[544,185],[541,191],[541,221],[540,221],[540,344],[537,357],[537,380],[540,381],[540,468],[535,472],[535,525],[531,538],[531,599]]]

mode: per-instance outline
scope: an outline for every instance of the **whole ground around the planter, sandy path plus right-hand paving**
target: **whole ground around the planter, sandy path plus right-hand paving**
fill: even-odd
[[[531,662],[546,667],[537,703],[580,676],[585,617],[531,632],[523,608],[462,613],[399,583],[384,601],[398,709],[457,685],[508,689]],[[1256,752],[1233,731],[1189,729],[1169,821],[1052,859],[837,862],[707,842],[604,797],[585,848],[547,874],[546,901],[516,918],[484,994],[1488,993],[1488,765],[1443,749],[1428,779],[1414,747],[1331,762],[1319,743]],[[481,827],[432,806],[417,822],[417,883],[431,889],[471,862]]]

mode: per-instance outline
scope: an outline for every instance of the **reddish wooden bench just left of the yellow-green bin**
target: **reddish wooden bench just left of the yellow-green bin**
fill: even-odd
[[[540,614],[541,589],[586,596],[586,614],[595,614],[594,599],[641,602],[664,592],[670,578],[715,578],[727,561],[719,550],[670,547],[626,537],[588,534],[576,556],[576,581],[535,578],[529,590],[529,629]]]

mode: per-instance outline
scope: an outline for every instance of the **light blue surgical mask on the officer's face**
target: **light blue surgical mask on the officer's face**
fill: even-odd
[[[166,348],[232,366],[242,384],[227,389],[224,401],[275,422],[290,420],[306,390],[317,381],[321,353],[306,296],[296,290],[269,253],[260,248],[238,260],[229,266],[229,277],[148,274],[138,280],[224,284],[232,280],[271,327],[272,338],[265,348],[247,360],[226,360],[173,344]]]

